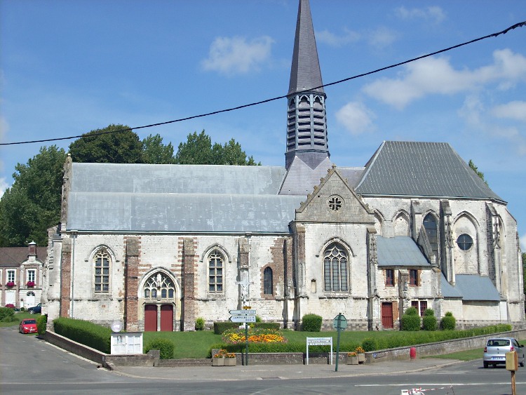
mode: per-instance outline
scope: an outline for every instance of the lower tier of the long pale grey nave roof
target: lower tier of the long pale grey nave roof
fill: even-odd
[[[67,229],[122,232],[288,233],[302,196],[69,194]]]

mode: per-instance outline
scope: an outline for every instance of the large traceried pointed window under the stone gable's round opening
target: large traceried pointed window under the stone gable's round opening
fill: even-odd
[[[323,253],[323,279],[325,291],[346,291],[347,253],[339,243],[331,243]]]

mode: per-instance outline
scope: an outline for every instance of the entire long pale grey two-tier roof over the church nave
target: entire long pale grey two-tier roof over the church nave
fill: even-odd
[[[72,163],[67,229],[288,233],[306,195],[277,166]]]

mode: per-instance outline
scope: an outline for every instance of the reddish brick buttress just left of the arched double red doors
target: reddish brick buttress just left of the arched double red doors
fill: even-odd
[[[138,323],[138,287],[140,265],[140,237],[125,237],[126,262],[124,276],[124,323],[126,330],[139,330]]]

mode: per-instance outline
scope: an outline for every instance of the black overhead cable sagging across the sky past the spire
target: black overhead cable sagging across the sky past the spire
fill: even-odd
[[[459,48],[461,46],[466,46],[466,45],[471,44],[471,43],[476,43],[477,41],[489,39],[491,37],[497,37],[497,36],[499,36],[501,34],[506,34],[507,32],[510,32],[511,30],[516,29],[517,27],[525,27],[525,26],[526,26],[526,21],[518,22],[518,23],[515,23],[515,25],[512,25],[512,26],[508,27],[507,29],[502,30],[501,32],[487,34],[487,36],[479,37],[478,39],[473,39],[471,41],[466,41],[464,43],[460,43],[460,44],[457,44],[455,46],[450,46],[448,48],[441,49],[440,51],[427,53],[426,55],[422,55],[422,56],[419,56],[417,58],[412,58],[412,59],[409,59],[409,60],[405,60],[404,62],[395,63],[394,65],[390,65],[390,66],[382,67],[382,68],[379,68],[379,69],[375,69],[375,70],[372,70],[371,72],[366,72],[366,73],[362,73],[362,74],[356,74],[355,76],[350,76],[349,78],[346,78],[346,79],[340,79],[339,81],[325,83],[325,84],[320,85],[320,86],[313,86],[312,88],[309,88],[309,89],[307,89],[305,91],[302,91],[302,92],[309,92],[309,91],[312,91],[314,89],[323,88],[325,86],[332,86],[332,85],[336,85],[337,83],[350,81],[351,79],[357,79],[357,78],[360,78],[362,76],[368,76],[370,74],[375,74],[377,72],[383,72],[386,69],[392,69],[393,67],[406,65],[407,63],[414,62],[416,60],[420,60],[420,59],[424,59],[424,58],[428,58],[429,56],[437,55],[438,53],[444,53],[444,52],[447,52],[447,51],[451,51],[452,49]],[[299,92],[299,93],[302,93],[302,92]],[[277,96],[276,98],[271,98],[271,99],[267,99],[267,100],[260,100],[259,102],[252,102],[250,104],[240,105],[240,106],[237,106],[237,107],[231,107],[231,108],[227,108],[227,109],[220,109],[220,110],[213,111],[213,112],[207,112],[205,114],[187,116],[185,118],[174,119],[173,121],[151,123],[149,125],[136,126],[135,128],[126,128],[126,129],[111,130],[111,131],[100,132],[100,133],[93,133],[93,134],[90,135],[90,137],[94,137],[94,136],[97,136],[97,135],[105,135],[105,134],[108,134],[108,133],[125,132],[127,130],[138,130],[138,129],[144,129],[144,128],[153,128],[154,126],[168,125],[168,123],[175,123],[175,122],[188,121],[189,119],[203,118],[203,116],[210,116],[210,115],[215,115],[215,114],[221,114],[222,112],[230,112],[230,111],[234,111],[236,109],[242,109],[242,108],[246,108],[246,107],[262,105],[264,103],[273,102],[274,100],[281,100],[283,98],[286,98],[287,96],[288,95],[281,95],[281,96]],[[81,137],[83,137],[83,135],[74,135],[74,136],[63,137],[63,138],[49,138],[49,139],[32,140],[32,141],[2,142],[2,143],[0,143],[0,145],[32,144],[34,142],[50,142],[50,141],[60,141],[60,140],[71,140],[73,138],[81,138]]]

